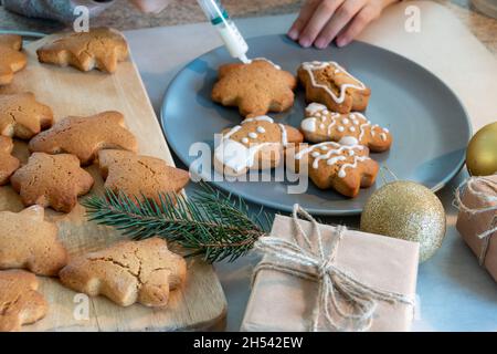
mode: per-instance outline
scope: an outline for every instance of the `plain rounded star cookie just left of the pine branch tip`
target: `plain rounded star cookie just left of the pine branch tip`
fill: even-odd
[[[94,183],[76,156],[44,153],[32,154],[10,181],[25,206],[52,207],[62,212],[70,212],[77,197],[87,194]]]

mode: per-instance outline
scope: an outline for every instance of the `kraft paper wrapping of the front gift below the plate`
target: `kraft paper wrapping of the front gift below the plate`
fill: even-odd
[[[300,223],[310,237],[310,222],[300,220]],[[335,228],[320,227],[325,244],[329,244]],[[292,218],[276,216],[271,235],[289,240],[293,232]],[[313,241],[316,240],[313,238]],[[353,230],[347,230],[336,258],[336,264],[353,274],[358,281],[405,295],[415,293],[417,262],[417,243]],[[273,270],[260,271],[241,330],[308,331],[317,291],[316,282]],[[411,305],[378,301],[371,331],[409,331],[413,314]],[[320,323],[320,330],[327,331],[322,326],[324,321]]]

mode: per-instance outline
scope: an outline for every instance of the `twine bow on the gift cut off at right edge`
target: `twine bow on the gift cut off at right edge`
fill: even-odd
[[[483,191],[478,191],[474,187],[475,184],[484,184],[487,187],[494,189],[496,191],[496,194],[487,195]],[[466,187],[466,192],[472,192],[474,196],[490,204],[490,206],[482,207],[482,208],[469,208],[468,206],[466,206],[463,202],[463,198],[462,198],[462,190],[464,189],[464,187]],[[494,204],[494,205],[491,205],[491,204]],[[494,215],[494,219],[490,223],[490,228],[487,231],[484,231],[477,236],[480,240],[483,240],[482,250],[480,250],[479,257],[478,257],[478,263],[479,263],[479,266],[483,266],[485,263],[485,258],[487,257],[487,250],[488,250],[488,246],[490,244],[490,238],[494,233],[497,232],[497,183],[487,177],[470,177],[470,178],[468,178],[467,180],[463,181],[457,187],[457,189],[455,191],[454,206],[457,209],[469,214],[470,216],[475,216],[475,215],[484,214],[484,212],[496,211]]]

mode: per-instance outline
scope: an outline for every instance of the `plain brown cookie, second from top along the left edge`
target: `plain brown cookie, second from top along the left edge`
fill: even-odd
[[[38,102],[34,94],[0,94],[0,135],[30,139],[52,123],[52,110]]]

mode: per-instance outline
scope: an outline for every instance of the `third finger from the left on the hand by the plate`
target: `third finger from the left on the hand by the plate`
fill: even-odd
[[[352,20],[352,18],[364,6],[366,0],[348,0],[341,4],[335,12],[331,20],[324,28],[319,38],[316,40],[316,46],[324,49],[331,43],[337,34]]]

